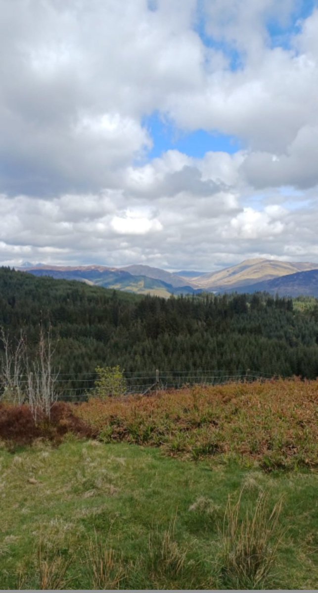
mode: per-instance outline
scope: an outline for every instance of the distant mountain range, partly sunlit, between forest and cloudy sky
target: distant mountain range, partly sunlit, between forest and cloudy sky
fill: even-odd
[[[250,259],[219,272],[171,273],[142,264],[122,268],[107,266],[46,266],[27,262],[20,267],[34,276],[81,280],[136,294],[169,297],[198,292],[268,291],[279,295],[318,296],[318,263]]]

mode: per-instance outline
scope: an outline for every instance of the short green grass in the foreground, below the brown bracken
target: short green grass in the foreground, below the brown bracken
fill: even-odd
[[[265,514],[283,499],[277,533],[266,542],[277,545],[274,562],[257,588],[318,586],[313,471],[266,474],[252,462],[186,461],[69,438],[58,448],[2,449],[0,476],[2,589],[240,585],[237,562],[227,556],[228,509],[247,533],[262,492]],[[242,553],[239,538],[236,550]]]

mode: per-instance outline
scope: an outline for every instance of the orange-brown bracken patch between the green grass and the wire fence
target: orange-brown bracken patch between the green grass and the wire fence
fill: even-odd
[[[227,456],[265,471],[318,466],[318,381],[185,388],[125,400],[92,398],[75,413],[107,442],[163,447],[199,460]]]

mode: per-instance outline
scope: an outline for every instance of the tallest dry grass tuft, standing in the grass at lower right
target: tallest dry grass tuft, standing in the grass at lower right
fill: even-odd
[[[234,589],[256,589],[266,584],[274,567],[284,531],[278,526],[282,498],[271,508],[268,494],[260,492],[254,509],[240,519],[242,494],[236,503],[228,498],[224,514],[221,575]]]

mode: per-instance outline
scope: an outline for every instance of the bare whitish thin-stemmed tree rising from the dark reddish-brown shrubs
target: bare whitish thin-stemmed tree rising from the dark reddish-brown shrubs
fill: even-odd
[[[27,396],[34,420],[39,412],[49,418],[52,406],[58,398],[56,381],[59,372],[53,370],[54,352],[51,327],[45,335],[41,324],[37,356],[31,364],[27,363]]]

